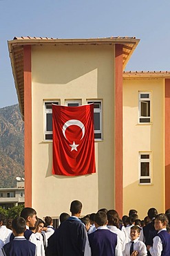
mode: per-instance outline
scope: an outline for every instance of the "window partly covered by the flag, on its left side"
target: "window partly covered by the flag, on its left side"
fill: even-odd
[[[45,140],[52,140],[52,103],[59,105],[59,100],[49,100],[44,102],[45,109]]]

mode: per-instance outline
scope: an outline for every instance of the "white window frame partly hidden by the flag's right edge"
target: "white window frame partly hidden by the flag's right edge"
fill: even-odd
[[[99,124],[100,124],[100,129],[95,130],[94,129],[94,140],[95,141],[100,141],[103,140],[103,100],[87,100],[87,104],[92,104],[98,102],[100,103],[100,108],[94,108],[94,113],[99,113],[100,116],[100,120],[99,120]],[[101,134],[101,138],[95,138],[95,134]]]

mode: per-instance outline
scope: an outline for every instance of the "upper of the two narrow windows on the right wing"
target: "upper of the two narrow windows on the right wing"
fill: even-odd
[[[151,122],[151,93],[139,92],[139,122]]]

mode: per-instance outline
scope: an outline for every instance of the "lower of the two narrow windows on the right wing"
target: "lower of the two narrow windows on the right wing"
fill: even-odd
[[[140,184],[150,184],[151,183],[151,153],[140,152],[139,154],[140,163]]]

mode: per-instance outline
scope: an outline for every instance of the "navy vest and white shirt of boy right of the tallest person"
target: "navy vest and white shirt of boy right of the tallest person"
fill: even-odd
[[[118,236],[107,226],[100,226],[88,235],[91,251],[85,247],[85,256],[122,256]]]

